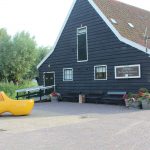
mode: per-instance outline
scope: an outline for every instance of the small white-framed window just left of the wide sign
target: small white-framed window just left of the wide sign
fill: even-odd
[[[94,66],[94,80],[107,80],[107,66]]]

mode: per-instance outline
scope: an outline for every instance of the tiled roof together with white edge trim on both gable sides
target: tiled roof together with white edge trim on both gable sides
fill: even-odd
[[[77,0],[73,1],[68,16],[66,17],[62,29],[55,41],[53,51],[63,32]],[[150,36],[150,12],[119,2],[117,0],[87,0],[95,11],[100,15],[104,22],[109,26],[117,38],[132,46],[146,52],[144,33],[146,27],[147,35]],[[112,21],[113,20],[113,21]],[[115,23],[116,22],[116,23]],[[129,23],[129,24],[128,24]],[[38,64],[39,68],[53,52],[47,54]],[[150,40],[148,42],[148,54],[150,54]]]

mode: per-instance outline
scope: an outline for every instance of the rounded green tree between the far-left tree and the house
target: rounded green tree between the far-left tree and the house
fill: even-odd
[[[32,68],[37,58],[36,42],[27,32],[17,33],[12,40],[9,56],[9,80],[14,83],[21,80]]]

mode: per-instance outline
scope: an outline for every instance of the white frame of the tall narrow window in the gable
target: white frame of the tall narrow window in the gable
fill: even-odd
[[[84,29],[86,30],[86,54],[87,54],[87,59],[86,60],[79,60],[78,58],[78,35],[81,35],[82,33],[78,34],[78,30],[80,29]],[[80,27],[80,28],[77,28],[77,62],[87,62],[88,61],[88,35],[87,35],[87,26],[84,26],[84,27]]]

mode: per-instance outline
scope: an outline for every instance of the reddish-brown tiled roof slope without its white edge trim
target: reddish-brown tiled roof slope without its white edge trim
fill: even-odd
[[[93,0],[105,14],[107,19],[116,20],[113,26],[125,38],[145,46],[144,33],[147,27],[147,35],[150,36],[150,12],[119,2],[117,0]],[[131,23],[134,27],[131,27]],[[150,41],[148,42],[150,48]]]

